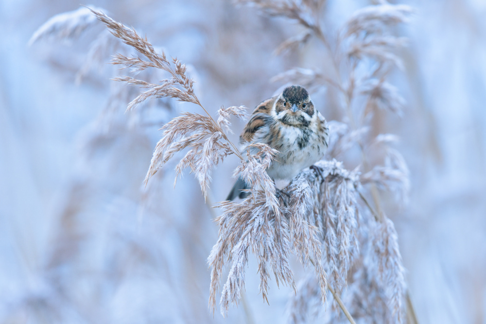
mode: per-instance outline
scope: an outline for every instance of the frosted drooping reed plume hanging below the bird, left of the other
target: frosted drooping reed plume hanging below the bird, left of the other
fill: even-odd
[[[250,154],[255,150],[257,153]],[[288,224],[282,221],[275,185],[266,173],[276,153],[266,144],[251,144],[247,149],[247,160],[242,161],[234,172],[235,177],[241,177],[252,186],[251,195],[240,204],[220,203],[224,211],[216,219],[220,225],[219,239],[208,257],[212,268],[209,306],[213,310],[216,307],[216,292],[225,260],[231,258],[232,266],[220,300],[223,316],[227,314],[229,304],[240,299],[250,248],[259,260],[260,291],[264,300],[267,300],[269,267],[275,273],[277,283],[284,282],[295,289],[288,260],[291,253]],[[231,251],[228,251],[230,247]]]

